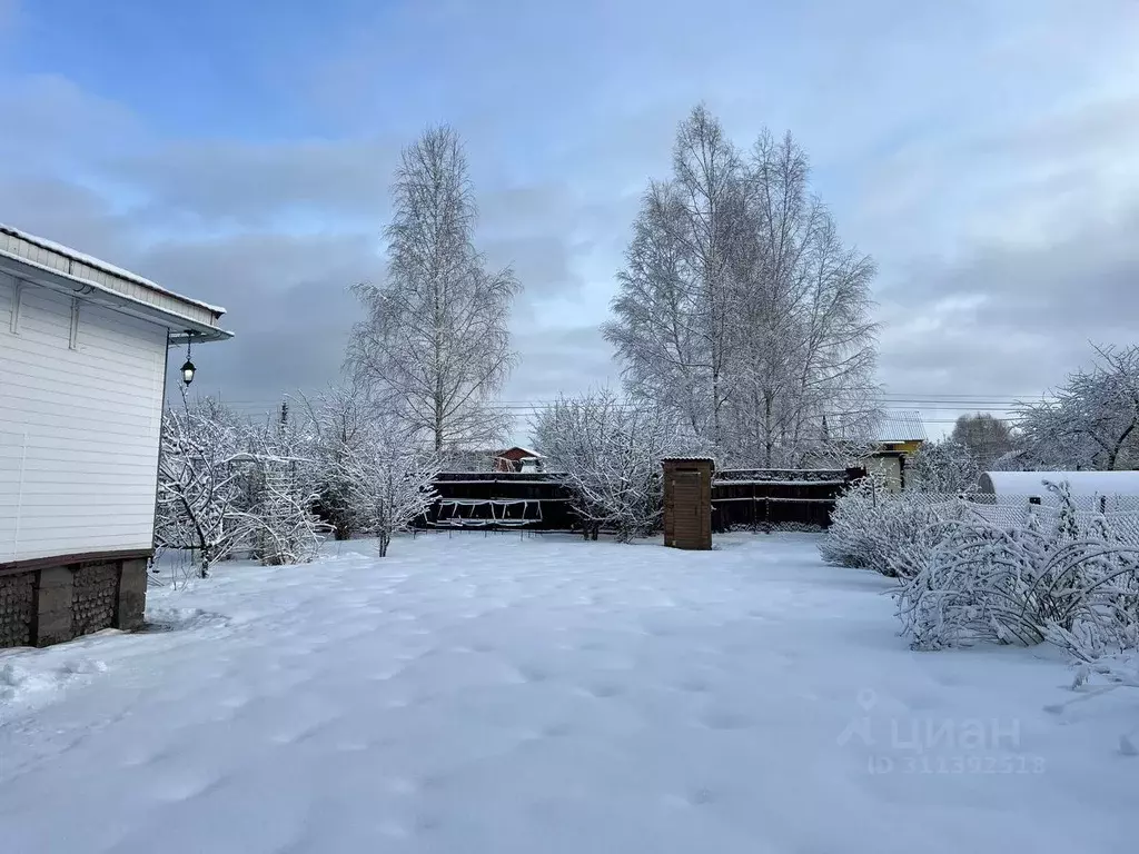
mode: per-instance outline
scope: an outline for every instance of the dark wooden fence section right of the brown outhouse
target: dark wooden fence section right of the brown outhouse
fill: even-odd
[[[830,525],[835,499],[863,469],[726,469],[712,482],[712,526],[737,527]]]

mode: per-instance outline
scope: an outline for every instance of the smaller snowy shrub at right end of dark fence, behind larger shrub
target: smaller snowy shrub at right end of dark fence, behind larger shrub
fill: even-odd
[[[830,527],[819,545],[828,564],[874,569],[888,576],[912,575],[909,550],[915,539],[937,525],[949,509],[917,493],[890,493],[874,478],[863,478],[835,502]]]

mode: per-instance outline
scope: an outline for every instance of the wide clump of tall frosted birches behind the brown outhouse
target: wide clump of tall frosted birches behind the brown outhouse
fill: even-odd
[[[872,261],[845,247],[789,134],[751,157],[702,106],[653,183],[604,328],[636,399],[736,465],[802,465],[874,414]]]

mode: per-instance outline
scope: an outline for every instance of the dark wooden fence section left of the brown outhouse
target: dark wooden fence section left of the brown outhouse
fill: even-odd
[[[535,471],[444,471],[439,499],[420,528],[573,531],[577,516],[556,475]]]

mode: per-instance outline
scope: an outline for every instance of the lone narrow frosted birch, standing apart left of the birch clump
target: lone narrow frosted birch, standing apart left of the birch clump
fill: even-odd
[[[367,317],[347,366],[436,451],[493,443],[506,429],[491,403],[515,361],[507,326],[518,282],[510,269],[487,271],[474,246],[477,207],[452,129],[403,150],[392,196],[386,281],[354,288]]]

